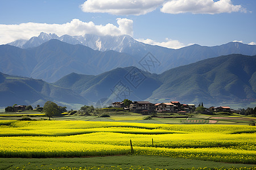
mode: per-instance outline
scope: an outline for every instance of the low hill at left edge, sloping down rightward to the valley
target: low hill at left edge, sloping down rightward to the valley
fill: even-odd
[[[87,104],[88,100],[68,88],[44,82],[40,79],[11,76],[0,73],[0,106],[13,104],[40,104],[51,101]]]

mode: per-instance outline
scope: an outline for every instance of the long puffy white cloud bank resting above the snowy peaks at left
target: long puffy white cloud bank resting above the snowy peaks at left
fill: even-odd
[[[46,24],[46,23],[22,23],[22,24],[0,24],[0,44],[6,44],[18,39],[30,39],[32,36],[38,36],[40,32],[56,33],[62,35],[83,35],[92,33],[95,35],[130,35],[133,36],[133,20],[126,18],[117,19],[118,27],[113,24],[95,25],[93,22],[82,22],[79,19],[73,19],[65,24]]]

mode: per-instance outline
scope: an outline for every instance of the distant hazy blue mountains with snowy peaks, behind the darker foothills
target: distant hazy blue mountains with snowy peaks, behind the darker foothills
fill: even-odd
[[[127,35],[58,37],[55,34],[40,33],[30,40],[17,40],[10,44],[24,49],[1,45],[0,71],[47,82],[55,82],[73,72],[97,75],[128,66],[160,74],[202,59],[236,53],[248,56],[256,54],[256,45],[240,42],[212,47],[191,45],[168,49],[138,42]]]

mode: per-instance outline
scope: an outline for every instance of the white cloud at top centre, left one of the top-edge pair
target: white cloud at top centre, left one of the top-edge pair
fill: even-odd
[[[80,7],[84,12],[114,15],[144,15],[162,5],[164,0],[88,0]]]

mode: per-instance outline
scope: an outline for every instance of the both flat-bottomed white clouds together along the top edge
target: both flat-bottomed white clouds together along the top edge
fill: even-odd
[[[84,12],[100,12],[113,15],[144,15],[158,7],[168,14],[220,14],[246,12],[241,5],[231,0],[88,0],[81,6]]]

